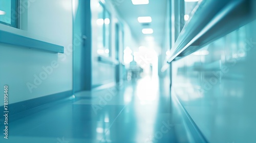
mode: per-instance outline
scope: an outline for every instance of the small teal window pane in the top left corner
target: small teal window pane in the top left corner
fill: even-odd
[[[17,0],[0,0],[0,23],[17,28]]]

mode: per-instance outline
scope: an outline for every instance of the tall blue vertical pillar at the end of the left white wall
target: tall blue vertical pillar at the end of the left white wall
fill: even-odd
[[[73,91],[92,89],[91,1],[73,0]]]

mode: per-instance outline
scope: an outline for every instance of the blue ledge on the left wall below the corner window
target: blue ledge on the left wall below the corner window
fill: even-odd
[[[13,34],[10,32],[0,30],[0,42],[12,45],[19,45],[30,47],[33,49],[46,50],[56,53],[64,53],[64,47],[32,38],[28,38],[22,35]]]

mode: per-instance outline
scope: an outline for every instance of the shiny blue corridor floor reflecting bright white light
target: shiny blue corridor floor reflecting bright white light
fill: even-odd
[[[34,110],[38,112],[10,122],[9,139],[0,141],[190,142],[167,79],[144,77],[118,87],[83,91]]]

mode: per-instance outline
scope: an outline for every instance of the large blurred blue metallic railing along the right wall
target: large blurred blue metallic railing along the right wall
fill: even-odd
[[[203,0],[177,38],[167,62],[178,60],[256,19],[254,0]],[[163,66],[162,71],[166,69]]]

